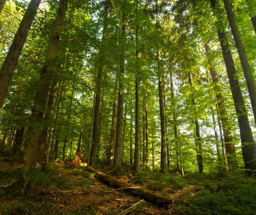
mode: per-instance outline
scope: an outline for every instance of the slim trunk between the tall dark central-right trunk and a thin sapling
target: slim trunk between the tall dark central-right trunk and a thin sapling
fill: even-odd
[[[174,84],[172,80],[172,71],[170,71],[170,82],[171,82],[171,98],[172,98],[172,106],[173,106],[173,119],[174,119],[174,138],[175,138],[175,159],[176,159],[176,167],[180,169],[180,159],[179,159],[179,141],[178,141],[178,129],[177,129],[177,115],[174,101]]]

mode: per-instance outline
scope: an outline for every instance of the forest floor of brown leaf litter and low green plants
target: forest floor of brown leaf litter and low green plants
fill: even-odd
[[[20,158],[0,158],[0,185],[14,183],[22,173]],[[131,186],[143,187],[174,200],[163,208],[139,197],[114,189],[85,170],[74,169],[71,162],[48,165],[24,198],[0,197],[0,214],[256,214],[256,179],[229,173],[166,174],[157,171],[135,173],[129,166],[114,172],[114,177]],[[113,176],[113,171],[98,165],[95,169]],[[4,188],[0,188],[0,194]],[[139,203],[138,203],[139,202]],[[138,203],[134,206],[135,203]],[[130,209],[129,209],[130,208]]]

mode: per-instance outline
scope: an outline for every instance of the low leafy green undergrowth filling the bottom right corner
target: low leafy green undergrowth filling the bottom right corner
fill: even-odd
[[[203,189],[197,193],[188,193],[181,198],[175,210],[181,214],[255,214],[256,180],[244,178],[241,174],[226,174],[224,179],[212,184],[220,189]]]

